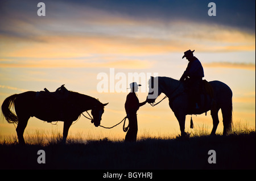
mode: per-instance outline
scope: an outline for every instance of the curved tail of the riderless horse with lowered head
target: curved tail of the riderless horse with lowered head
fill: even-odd
[[[17,98],[17,96],[18,94],[11,95],[3,101],[2,113],[8,123],[18,124],[18,117],[15,115],[14,112],[10,110],[10,108],[14,106],[14,100]]]

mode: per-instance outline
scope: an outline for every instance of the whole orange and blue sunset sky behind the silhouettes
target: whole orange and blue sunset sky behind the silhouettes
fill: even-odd
[[[126,92],[99,92],[97,75],[110,70],[158,74],[179,79],[187,68],[182,59],[195,50],[204,67],[204,79],[226,83],[233,91],[233,122],[255,129],[255,1],[48,1],[46,16],[38,16],[40,1],[0,1],[0,103],[24,91],[55,91],[65,84],[109,103],[101,124],[110,127],[126,116]],[[209,16],[209,2],[216,3],[216,16]],[[115,83],[119,80],[115,79]],[[146,100],[148,79],[140,79],[138,98]],[[113,88],[113,87],[112,87]],[[111,89],[110,84],[108,89]],[[157,100],[163,98],[160,95]],[[2,112],[1,112],[2,113]],[[156,107],[139,109],[138,136],[180,134],[179,123],[164,100]],[[217,132],[222,133],[222,116]],[[187,116],[185,131],[189,131]],[[195,127],[212,128],[210,112],[193,116]],[[62,133],[63,123],[51,125],[35,117],[26,133],[42,129]],[[96,128],[85,117],[69,133],[92,137],[124,138],[119,125]],[[1,115],[0,134],[15,134]]]

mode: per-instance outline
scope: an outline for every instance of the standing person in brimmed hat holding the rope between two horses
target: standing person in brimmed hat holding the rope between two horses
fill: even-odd
[[[129,129],[126,133],[125,141],[135,142],[137,140],[137,111],[139,110],[139,107],[147,103],[147,101],[139,103],[139,99],[135,93],[138,91],[139,86],[141,85],[138,85],[137,82],[130,83],[131,92],[126,97],[125,111],[129,120]]]

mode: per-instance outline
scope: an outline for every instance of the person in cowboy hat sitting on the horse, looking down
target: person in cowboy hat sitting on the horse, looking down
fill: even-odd
[[[201,62],[193,56],[190,49],[184,52],[184,57],[187,58],[188,66],[180,78],[180,81],[186,81],[188,85],[188,96],[191,99],[192,107],[199,109],[200,103],[200,85],[204,77],[204,69]]]

